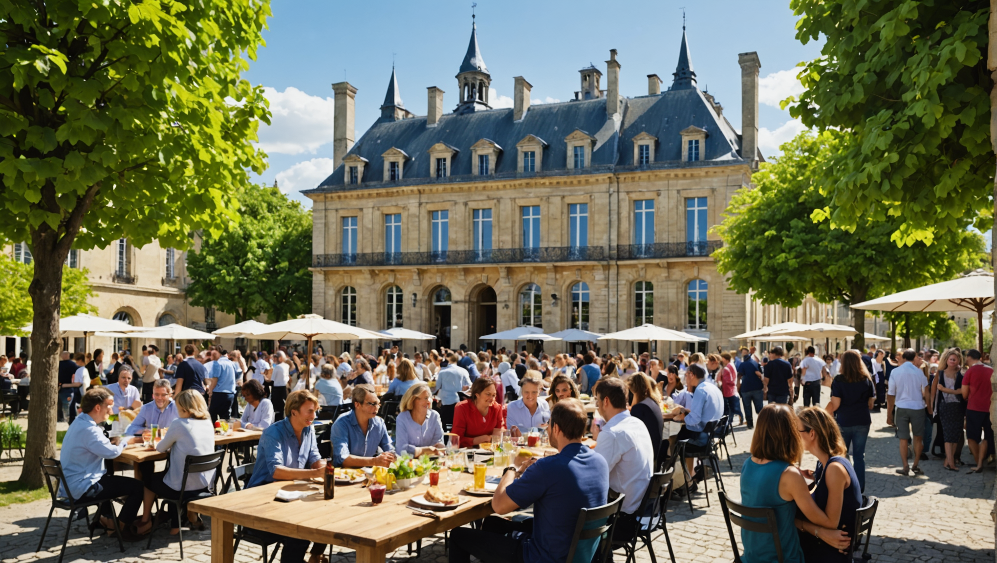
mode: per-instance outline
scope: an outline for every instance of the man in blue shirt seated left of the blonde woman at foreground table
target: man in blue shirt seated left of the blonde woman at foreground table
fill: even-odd
[[[332,424],[332,462],[337,467],[387,467],[395,460],[388,426],[377,416],[380,408],[370,385],[353,388],[353,411]]]

